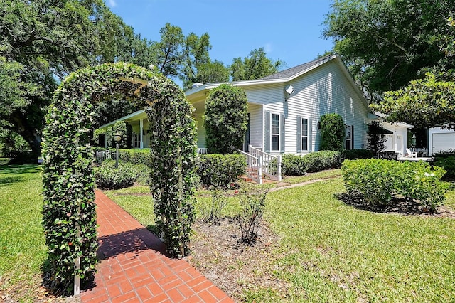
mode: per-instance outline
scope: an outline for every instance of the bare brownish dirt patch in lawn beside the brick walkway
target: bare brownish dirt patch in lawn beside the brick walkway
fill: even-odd
[[[262,289],[273,297],[284,297],[287,283],[272,275],[279,238],[267,225],[259,230],[254,245],[240,242],[240,229],[234,218],[216,224],[200,221],[193,226],[192,254],[186,260],[235,301],[250,291]]]

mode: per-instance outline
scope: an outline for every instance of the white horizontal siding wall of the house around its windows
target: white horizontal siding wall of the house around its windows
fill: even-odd
[[[287,85],[294,86],[295,91],[291,97],[285,100],[284,88]],[[311,121],[309,151],[318,151],[321,134],[317,123],[321,115],[333,112],[341,115],[345,124],[354,126],[353,148],[366,147],[368,107],[335,60],[321,65],[289,83],[252,85],[243,88],[247,92],[249,102],[264,105],[262,129],[266,128],[265,115],[267,112],[284,115],[284,153],[286,154],[298,154],[298,116]],[[263,133],[260,145],[259,142],[252,145],[265,147],[264,137],[268,137],[268,134]],[[309,151],[300,151],[299,154],[306,154]],[[279,154],[280,151],[271,153]]]

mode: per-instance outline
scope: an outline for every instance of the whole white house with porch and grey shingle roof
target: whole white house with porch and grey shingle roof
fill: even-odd
[[[185,92],[196,109],[193,117],[198,124],[198,148],[202,151],[206,147],[205,100],[208,92],[220,84],[203,84]],[[363,92],[355,85],[338,55],[328,55],[262,79],[230,84],[242,87],[247,95],[249,123],[244,151],[249,151],[249,146],[272,156],[318,151],[321,142],[319,119],[328,113],[343,117],[346,149],[364,149],[368,123],[381,119],[371,112]],[[134,147],[148,147],[148,122],[143,110],[119,120],[132,124]],[[387,141],[388,149],[405,154],[408,127],[406,124],[384,124],[384,128],[392,132]]]

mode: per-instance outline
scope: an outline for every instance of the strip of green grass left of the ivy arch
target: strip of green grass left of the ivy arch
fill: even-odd
[[[0,166],[0,292],[19,287],[21,301],[36,295],[47,257],[40,171],[36,165]]]

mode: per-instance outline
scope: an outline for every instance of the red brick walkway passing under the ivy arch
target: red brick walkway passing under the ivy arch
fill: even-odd
[[[82,302],[233,302],[188,262],[166,257],[161,241],[104,193],[95,201],[101,262]]]

